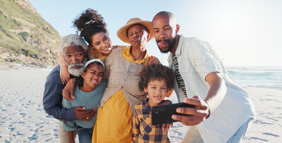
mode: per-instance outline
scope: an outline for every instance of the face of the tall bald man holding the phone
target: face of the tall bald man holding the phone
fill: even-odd
[[[167,53],[176,49],[176,35],[179,31],[176,20],[168,15],[157,15],[152,20],[152,25],[159,50]]]

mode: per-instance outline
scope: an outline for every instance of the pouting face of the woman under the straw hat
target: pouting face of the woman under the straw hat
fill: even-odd
[[[149,32],[144,25],[132,25],[128,28],[128,39],[133,46],[141,46],[147,43]]]

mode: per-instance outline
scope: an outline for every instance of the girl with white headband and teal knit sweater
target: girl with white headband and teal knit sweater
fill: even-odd
[[[68,101],[63,99],[64,108],[73,108],[76,106],[84,106],[85,110],[90,108],[98,108],[98,104],[102,98],[107,80],[102,80],[104,74],[104,63],[98,58],[93,58],[85,63],[85,70],[82,73],[83,85],[76,86],[74,96],[75,99]],[[78,130],[79,142],[92,142],[93,127],[96,122],[95,115],[89,121],[74,120],[63,121],[63,129],[68,131],[69,142],[75,142],[73,139],[73,130]],[[88,117],[87,117],[88,119]]]

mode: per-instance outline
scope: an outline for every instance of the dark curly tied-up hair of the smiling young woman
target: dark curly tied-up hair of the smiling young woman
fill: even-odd
[[[108,34],[104,18],[92,8],[88,8],[81,13],[80,17],[73,21],[73,27],[76,28],[76,32],[80,33],[81,37],[84,37],[88,44],[92,44],[91,37],[93,35],[99,32]]]

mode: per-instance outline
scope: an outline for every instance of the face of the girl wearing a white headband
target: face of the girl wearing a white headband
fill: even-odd
[[[97,63],[90,63],[86,73],[83,72],[81,75],[84,78],[81,90],[83,92],[92,92],[102,81],[103,75],[103,66],[97,65]]]

